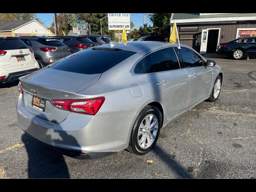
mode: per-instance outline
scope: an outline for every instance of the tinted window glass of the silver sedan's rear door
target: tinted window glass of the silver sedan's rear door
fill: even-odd
[[[147,56],[147,73],[180,69],[173,48],[161,49]]]

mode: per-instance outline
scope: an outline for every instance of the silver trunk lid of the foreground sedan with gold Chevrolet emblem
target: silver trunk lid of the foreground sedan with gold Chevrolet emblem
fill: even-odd
[[[60,123],[70,112],[60,110],[51,103],[52,99],[74,99],[79,92],[94,84],[101,74],[78,74],[52,68],[43,68],[20,78],[24,90],[26,110],[46,120]],[[45,99],[44,112],[32,107],[33,96]]]

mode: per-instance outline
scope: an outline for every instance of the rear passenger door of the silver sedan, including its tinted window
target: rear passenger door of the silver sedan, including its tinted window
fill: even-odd
[[[188,74],[180,68],[172,47],[148,54],[146,63],[148,82],[164,103],[167,119],[171,120],[187,108]]]

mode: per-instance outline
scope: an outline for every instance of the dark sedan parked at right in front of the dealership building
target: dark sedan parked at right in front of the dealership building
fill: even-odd
[[[237,60],[248,55],[255,55],[256,37],[244,37],[226,43],[220,43],[217,54],[227,55]]]

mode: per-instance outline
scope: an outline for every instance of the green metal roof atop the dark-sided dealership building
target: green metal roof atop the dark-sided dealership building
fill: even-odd
[[[227,17],[252,17],[252,16],[256,16],[256,13],[232,13],[232,14],[212,14],[212,15],[200,15],[200,13],[173,13],[172,20],[227,18]]]

